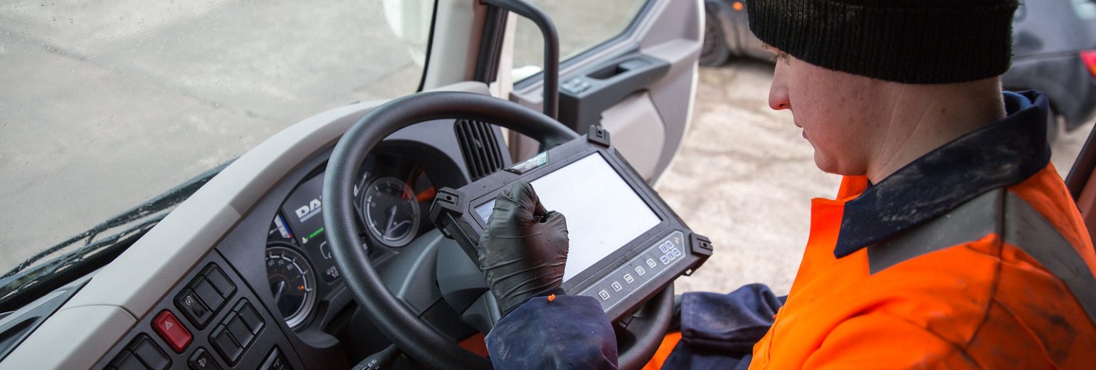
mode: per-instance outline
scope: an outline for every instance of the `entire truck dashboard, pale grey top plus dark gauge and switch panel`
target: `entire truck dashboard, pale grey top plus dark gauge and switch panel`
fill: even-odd
[[[487,94],[478,82],[447,90]],[[0,369],[335,369],[388,347],[331,261],[320,204],[332,148],[378,104],[321,113],[236,160],[70,297],[44,298],[62,303]],[[472,181],[477,150],[512,164],[498,128],[469,137],[468,125],[392,134],[362,163],[354,192],[374,268],[454,343],[477,331],[438,289],[438,253],[459,246],[426,220],[429,207],[435,188]],[[35,304],[4,319],[42,311]]]

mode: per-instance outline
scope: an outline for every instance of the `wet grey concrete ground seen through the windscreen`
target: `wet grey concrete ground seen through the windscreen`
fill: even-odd
[[[0,4],[0,271],[300,119],[414,92],[421,67],[384,12],[381,0]]]

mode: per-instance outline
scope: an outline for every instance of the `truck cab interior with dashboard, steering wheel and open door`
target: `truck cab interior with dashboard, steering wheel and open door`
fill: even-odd
[[[688,128],[704,9],[633,2],[602,39],[546,46],[546,68],[515,68],[515,44],[583,35],[581,25],[555,30],[509,0],[404,2],[404,27],[429,21],[425,44],[411,45],[422,49],[421,76],[407,78],[449,100],[415,92],[315,112],[39,253],[0,280],[0,368],[489,368],[482,340],[498,308],[431,205],[444,187],[593,126],[657,183]],[[537,16],[520,32],[518,19]],[[375,109],[398,116],[399,128],[378,128],[396,126],[377,124]],[[338,144],[361,157],[333,164]],[[340,220],[355,235],[324,222],[333,171],[350,178]],[[359,248],[332,253],[336,238]],[[344,254],[361,259],[339,262]],[[670,285],[616,321],[623,368],[653,355],[672,297]]]

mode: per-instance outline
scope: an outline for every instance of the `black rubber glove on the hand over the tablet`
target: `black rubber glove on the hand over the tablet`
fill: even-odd
[[[562,286],[569,245],[567,219],[545,211],[533,185],[518,182],[499,193],[480,238],[479,268],[503,316]]]

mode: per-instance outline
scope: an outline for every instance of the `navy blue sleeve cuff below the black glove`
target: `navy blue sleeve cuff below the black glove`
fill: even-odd
[[[616,369],[616,335],[593,297],[535,297],[487,335],[495,369]]]

